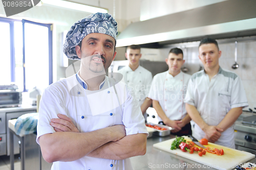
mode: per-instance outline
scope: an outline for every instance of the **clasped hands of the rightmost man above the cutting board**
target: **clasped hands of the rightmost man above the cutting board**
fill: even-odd
[[[208,139],[209,142],[214,143],[221,137],[223,129],[217,126],[207,126],[203,131],[205,132],[204,138]]]

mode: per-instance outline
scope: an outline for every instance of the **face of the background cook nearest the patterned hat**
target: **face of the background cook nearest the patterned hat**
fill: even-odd
[[[129,66],[139,66],[139,61],[141,58],[139,49],[127,48],[125,53],[126,59],[129,61]]]

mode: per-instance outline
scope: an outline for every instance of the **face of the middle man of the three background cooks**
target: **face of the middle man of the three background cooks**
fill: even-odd
[[[179,74],[182,65],[185,60],[183,60],[183,55],[175,53],[169,53],[168,58],[165,59],[166,64],[169,67],[169,74],[176,76]]]

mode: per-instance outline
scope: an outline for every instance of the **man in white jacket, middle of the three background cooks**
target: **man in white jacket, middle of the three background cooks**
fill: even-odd
[[[154,76],[148,98],[153,100],[159,124],[175,128],[172,134],[188,135],[191,134],[191,119],[183,99],[191,76],[181,71],[185,60],[180,48],[172,48],[165,61],[169,69]]]

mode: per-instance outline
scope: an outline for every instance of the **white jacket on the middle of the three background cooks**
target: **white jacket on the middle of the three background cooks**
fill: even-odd
[[[158,101],[165,115],[171,120],[180,120],[187,114],[183,100],[190,77],[182,71],[173,77],[167,70],[153,78],[148,98]],[[159,116],[158,120],[162,121]]]

